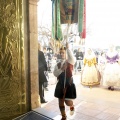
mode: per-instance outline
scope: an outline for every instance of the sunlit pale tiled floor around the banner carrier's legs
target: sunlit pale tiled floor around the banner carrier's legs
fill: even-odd
[[[50,74],[49,91],[45,92],[48,101],[42,108],[50,113],[51,118],[60,120],[58,100],[54,97],[55,78]],[[102,86],[93,88],[80,84],[80,73],[74,75],[77,88],[77,98],[74,100],[75,114],[69,115],[66,106],[67,120],[120,120],[120,90],[109,91]]]

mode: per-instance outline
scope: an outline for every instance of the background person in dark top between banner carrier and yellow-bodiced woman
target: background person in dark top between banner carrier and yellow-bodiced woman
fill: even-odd
[[[81,70],[83,66],[83,52],[79,48],[75,54],[76,57],[76,66],[75,66],[75,73],[78,71],[78,68]]]

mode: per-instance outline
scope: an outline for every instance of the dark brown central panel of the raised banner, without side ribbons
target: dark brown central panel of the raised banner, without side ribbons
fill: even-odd
[[[61,24],[78,23],[79,0],[60,0]]]

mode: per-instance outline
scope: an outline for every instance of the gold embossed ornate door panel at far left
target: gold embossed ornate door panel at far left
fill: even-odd
[[[24,0],[0,0],[0,120],[26,112]]]

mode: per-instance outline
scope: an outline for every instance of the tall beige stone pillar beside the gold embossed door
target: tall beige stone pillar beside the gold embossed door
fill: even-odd
[[[30,80],[31,80],[31,108],[40,106],[38,85],[38,24],[37,2],[29,0],[29,39],[30,39]]]

